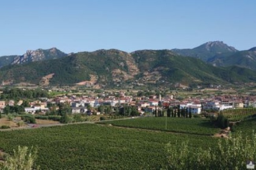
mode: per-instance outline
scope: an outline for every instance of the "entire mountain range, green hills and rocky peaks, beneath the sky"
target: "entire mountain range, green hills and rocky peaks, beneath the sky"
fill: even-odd
[[[234,84],[256,82],[255,62],[256,48],[238,51],[221,41],[132,53],[101,49],[67,55],[57,48],[37,49],[0,57],[0,82],[95,87]]]

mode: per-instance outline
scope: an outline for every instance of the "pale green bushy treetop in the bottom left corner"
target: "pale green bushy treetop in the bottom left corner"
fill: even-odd
[[[0,166],[0,169],[32,170],[36,158],[37,150],[33,146],[30,149],[27,146],[18,146],[17,150],[13,150],[12,155],[7,155],[6,161],[2,167]]]

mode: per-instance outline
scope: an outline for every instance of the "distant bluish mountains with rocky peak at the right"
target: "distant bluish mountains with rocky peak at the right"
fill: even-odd
[[[256,47],[238,51],[222,41],[212,41],[193,49],[173,51],[180,55],[199,58],[213,66],[239,66],[256,70]]]

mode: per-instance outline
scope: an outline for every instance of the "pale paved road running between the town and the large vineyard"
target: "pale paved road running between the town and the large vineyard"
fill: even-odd
[[[66,125],[70,125],[70,124],[94,124],[97,122],[107,122],[107,121],[120,121],[120,120],[126,120],[126,119],[137,119],[137,118],[142,118],[142,117],[126,117],[126,118],[122,118],[122,119],[112,119],[112,120],[106,120],[106,121],[85,121],[85,122],[75,122],[75,123],[66,123],[66,124],[31,124],[28,123],[28,126],[25,127],[20,127],[20,128],[13,128],[13,129],[0,129],[0,131],[9,131],[9,130],[23,130],[23,129],[32,129],[32,128],[42,128],[42,127],[51,127],[51,126],[66,126]]]

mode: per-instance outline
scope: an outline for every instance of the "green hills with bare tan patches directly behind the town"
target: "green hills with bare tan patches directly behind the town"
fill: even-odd
[[[46,75],[50,85],[85,82],[103,87],[165,86],[170,84],[232,84],[256,82],[246,68],[214,67],[202,60],[177,55],[171,50],[139,50],[132,53],[110,49],[81,52],[53,60],[5,66],[0,82],[40,84]],[[82,83],[83,84],[83,83]]]

